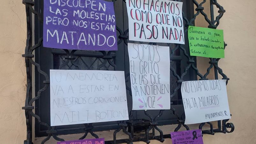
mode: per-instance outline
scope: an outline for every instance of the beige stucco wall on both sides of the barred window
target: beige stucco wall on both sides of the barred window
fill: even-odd
[[[235,131],[204,135],[204,143],[256,143],[256,1],[218,2],[226,10],[218,29],[224,30],[224,40],[228,44],[219,66],[230,78],[227,86],[232,113],[230,122],[234,123]],[[205,26],[199,19],[196,25]],[[21,0],[1,1],[0,33],[0,139],[1,143],[21,144],[26,139],[25,116],[21,110],[26,91],[25,63],[21,57],[26,42],[26,14]],[[204,72],[209,65],[208,59],[197,60],[200,71]],[[213,78],[213,74],[209,78]],[[166,140],[165,143],[171,142]]]

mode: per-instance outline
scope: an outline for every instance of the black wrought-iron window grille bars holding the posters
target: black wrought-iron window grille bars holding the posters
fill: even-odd
[[[115,3],[115,1],[117,1],[117,0],[113,0],[113,4]],[[123,1],[123,3],[126,2],[125,0],[118,0],[118,1]],[[175,1],[181,1],[181,0],[175,0]],[[206,2],[206,0],[203,0],[203,2],[201,2],[200,4],[196,0],[190,0],[190,1],[192,1],[194,3],[194,5],[196,6],[196,8],[195,8],[196,13],[194,14],[194,17],[191,19],[186,18],[183,13],[184,29],[185,29],[184,32],[188,31],[189,25],[194,26],[194,20],[196,19],[196,17],[199,14],[204,16],[205,20],[209,24],[208,25],[209,28],[216,29],[217,26],[219,25],[220,19],[223,16],[223,13],[225,12],[223,7],[217,3],[217,0],[210,0],[210,19],[208,18],[207,14],[204,12],[204,7],[202,7],[202,5]],[[33,61],[33,59],[32,59],[34,57],[34,55],[32,54],[33,51],[37,48],[40,48],[42,41],[43,41],[43,39],[40,38],[37,44],[32,45],[32,15],[37,16],[40,22],[43,22],[43,19],[40,15],[40,12],[35,11],[33,9],[34,2],[32,0],[23,0],[22,3],[26,5],[26,22],[27,22],[27,39],[26,39],[25,54],[22,55],[25,58],[26,74],[27,74],[26,101],[25,101],[25,106],[22,107],[22,109],[25,110],[26,127],[27,127],[27,137],[26,137],[26,140],[24,140],[24,144],[32,144],[33,143],[32,142],[32,117],[34,117],[35,120],[37,120],[40,123],[40,125],[44,125],[44,126],[48,127],[48,130],[46,132],[46,133],[48,133],[48,136],[44,140],[41,141],[41,144],[44,144],[51,137],[53,137],[57,141],[64,141],[64,139],[61,139],[57,136],[58,131],[56,129],[56,126],[50,126],[49,124],[41,121],[40,116],[36,115],[32,111],[34,109],[33,103],[36,100],[40,99],[41,92],[43,92],[47,89],[50,81],[49,81],[49,76],[44,71],[42,71],[40,69],[40,65],[38,63],[36,63],[35,61]],[[214,5],[219,9],[219,11],[218,11],[219,15],[216,16],[216,18],[214,18],[214,12],[213,12]],[[122,32],[121,29],[118,27],[116,27],[116,29],[120,33],[120,36],[119,36],[120,40],[118,41],[118,44],[120,44],[122,41],[124,41],[124,43],[127,45],[128,29],[124,32]],[[156,43],[149,43],[149,44],[155,45]],[[225,44],[225,47],[226,46],[227,46],[227,44]],[[183,47],[183,45],[175,44],[175,48],[172,49],[170,62],[177,60],[177,57],[179,57],[179,55],[176,55],[176,53],[175,53],[176,50],[179,50],[180,53],[183,53],[186,56],[187,66],[185,68],[185,71],[181,72],[180,75],[177,74],[175,68],[173,68],[172,66],[170,67],[172,75],[177,78],[177,87],[174,89],[173,93],[170,96],[171,100],[172,100],[172,97],[178,92],[178,90],[180,90],[181,83],[184,81],[184,76],[187,74],[188,70],[190,70],[190,69],[192,69],[196,72],[197,76],[200,77],[199,80],[208,80],[207,76],[209,75],[210,70],[212,68],[214,68],[215,79],[218,79],[218,74],[220,74],[222,76],[222,79],[227,80],[227,83],[228,83],[229,78],[223,73],[222,69],[218,66],[218,61],[220,60],[219,58],[218,59],[209,58],[210,65],[207,68],[207,72],[203,75],[203,74],[199,73],[199,71],[196,67],[196,63],[195,63],[196,57],[190,56],[189,53],[186,51],[185,47]],[[64,50],[64,51],[66,52],[66,56],[65,56],[66,61],[64,63],[62,63],[59,68],[67,66],[67,64],[69,62],[71,62],[73,65],[77,66],[79,69],[79,67],[80,67],[79,64],[77,64],[76,61],[74,61],[74,59],[76,58],[74,56],[74,53],[76,50],[72,50],[72,51]],[[98,69],[100,69],[101,67],[104,67],[106,63],[108,63],[109,65],[116,68],[116,65],[113,63],[113,60],[112,60],[113,56],[111,53],[113,51],[108,51],[108,52],[100,51],[100,52],[103,54],[102,58],[104,59],[104,61],[101,65],[98,66]],[[43,83],[45,84],[44,87],[42,89],[40,89],[39,91],[37,91],[36,96],[34,98],[32,98],[32,65],[34,65],[37,68],[38,72],[45,77],[45,80],[43,81]],[[126,79],[126,84],[127,84],[129,82],[129,74],[126,74],[125,79]],[[131,93],[131,89],[128,86],[126,88]],[[189,127],[184,124],[184,122],[185,122],[184,112],[177,113],[176,110],[172,107],[172,104],[171,104],[171,110],[172,110],[172,114],[175,115],[178,119],[178,126],[174,129],[174,131],[175,132],[179,131],[181,126],[184,126],[187,130],[189,130]],[[159,140],[160,142],[163,142],[164,138],[171,138],[169,134],[164,135],[163,132],[161,131],[161,129],[159,129],[157,127],[157,119],[162,116],[163,111],[164,110],[159,110],[159,113],[156,116],[152,116],[147,111],[144,111],[144,114],[150,118],[150,121],[136,122],[137,125],[146,125],[147,126],[145,134],[143,134],[140,137],[134,137],[132,135],[132,133],[129,133],[127,131],[128,125],[133,125],[133,124],[135,124],[135,122],[133,122],[132,120],[119,121],[118,122],[119,128],[114,131],[113,140],[106,141],[106,143],[114,143],[114,144],[128,143],[128,144],[131,144],[134,141],[144,141],[148,144],[148,143],[150,143],[150,140]],[[133,111],[131,110],[130,115],[132,114],[132,112]],[[202,129],[202,127],[205,124],[208,124],[208,125],[210,125],[210,129],[203,130],[202,131],[203,134],[214,135],[214,133],[232,133],[234,131],[234,125],[232,123],[228,123],[228,121],[229,121],[229,119],[225,119],[222,121],[219,120],[217,129],[213,129],[213,124],[210,122],[201,123],[199,125],[199,129]],[[151,129],[157,130],[160,133],[160,135],[158,135],[158,136],[149,135],[149,131]],[[88,133],[90,133],[93,137],[98,138],[98,135],[93,133],[92,130],[93,130],[93,124],[91,124],[91,123],[84,124],[84,135],[80,139],[85,139]],[[116,140],[116,133],[118,133],[121,130],[129,136],[129,139]]]

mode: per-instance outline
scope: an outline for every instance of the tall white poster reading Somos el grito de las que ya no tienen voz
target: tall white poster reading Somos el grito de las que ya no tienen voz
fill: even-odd
[[[169,47],[128,43],[133,110],[170,109]]]

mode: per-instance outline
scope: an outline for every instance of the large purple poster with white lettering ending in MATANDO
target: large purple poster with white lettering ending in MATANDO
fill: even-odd
[[[113,2],[44,0],[43,46],[117,50]]]

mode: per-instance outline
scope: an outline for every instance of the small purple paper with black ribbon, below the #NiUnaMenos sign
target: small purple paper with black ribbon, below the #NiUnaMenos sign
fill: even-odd
[[[201,129],[172,132],[172,144],[203,144]]]

